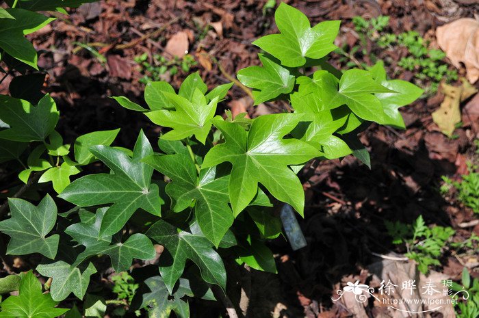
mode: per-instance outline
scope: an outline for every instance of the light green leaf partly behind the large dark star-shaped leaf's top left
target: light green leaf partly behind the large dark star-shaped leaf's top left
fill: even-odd
[[[119,128],[111,131],[94,131],[78,137],[75,140],[75,160],[77,163],[81,165],[90,163],[93,159],[90,147],[111,145],[119,131]]]

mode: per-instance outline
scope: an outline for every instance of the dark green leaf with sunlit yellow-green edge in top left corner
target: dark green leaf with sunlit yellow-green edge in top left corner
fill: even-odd
[[[25,38],[49,24],[55,18],[23,9],[6,9],[13,18],[0,19],[0,47],[19,61],[38,70],[34,46]]]

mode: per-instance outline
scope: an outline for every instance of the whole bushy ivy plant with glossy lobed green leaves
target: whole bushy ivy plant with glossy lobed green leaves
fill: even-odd
[[[14,1],[12,8],[17,7],[3,10],[0,23],[12,23],[18,12],[53,10],[67,2]],[[81,2],[88,1],[68,3]],[[239,70],[237,78],[253,91],[255,105],[275,103],[283,107],[279,114],[232,118],[221,102],[233,84],[208,88],[198,72],[179,90],[149,81],[146,105],[112,96],[160,127],[150,138],[139,131],[129,150],[112,146],[119,129],[65,144],[55,130],[60,112],[49,95],[38,101],[0,96],[1,161],[12,163],[8,169],[18,173],[23,187],[38,183],[40,193],[49,193],[34,204],[11,189],[15,198],[0,210],[5,219],[0,232],[11,237],[8,254],[40,254],[33,266],[51,278],[49,293],[40,295],[34,275],[23,276],[14,287],[19,295],[0,304],[0,317],[24,317],[17,307],[34,310],[27,308],[31,293],[44,299],[35,306],[53,307],[75,296],[85,299],[78,307],[86,316],[104,315],[107,302],[94,295],[90,279],[105,263],[117,272],[133,263],[153,264],[153,276],[140,280],[131,290],[135,295],[122,300],[150,317],[170,312],[189,317],[188,297],[224,298],[222,293],[229,293],[225,263],[231,260],[276,272],[265,244],[282,233],[273,207],[290,204],[305,214],[302,167],[351,154],[370,165],[358,134],[372,122],[404,128],[398,109],[422,90],[387,79],[382,64],[346,72],[328,64],[339,21],[311,26],[305,14],[285,3],[275,18],[280,33],[253,43],[263,50],[262,65]],[[48,21],[25,27],[18,38]],[[36,65],[33,56],[12,56]],[[57,207],[68,211],[58,213]],[[64,313],[56,310],[48,317]],[[67,315],[81,313],[75,306]]]

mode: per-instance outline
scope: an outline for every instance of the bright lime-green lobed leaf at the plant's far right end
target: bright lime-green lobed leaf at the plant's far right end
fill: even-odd
[[[413,83],[409,83],[409,81],[402,81],[400,79],[388,81],[382,61],[376,63],[370,72],[378,83],[394,91],[374,94],[381,102],[381,105],[383,105],[384,120],[382,124],[405,129],[406,126],[404,125],[404,119],[399,112],[399,108],[413,103],[424,91]]]

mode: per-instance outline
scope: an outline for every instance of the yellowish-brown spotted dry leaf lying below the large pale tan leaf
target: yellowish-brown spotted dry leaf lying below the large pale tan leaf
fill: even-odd
[[[456,124],[461,122],[461,102],[476,94],[478,91],[465,79],[461,80],[463,81],[463,85],[457,87],[441,83],[444,101],[441,103],[439,109],[432,113],[432,120],[434,120],[444,135],[448,137],[451,137],[452,133],[454,133]]]

